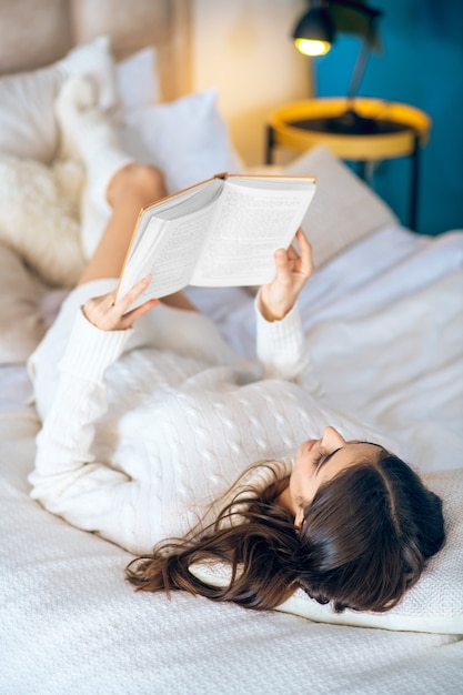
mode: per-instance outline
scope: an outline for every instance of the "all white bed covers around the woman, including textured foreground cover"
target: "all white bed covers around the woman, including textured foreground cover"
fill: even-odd
[[[421,470],[463,466],[463,232],[378,232],[301,299],[312,359],[338,406]],[[190,289],[242,352],[252,298]],[[51,302],[46,306],[52,313]],[[462,693],[463,641],[255,614],[133,593],[130,556],[28,496],[39,422],[23,365],[0,371],[0,693]]]

